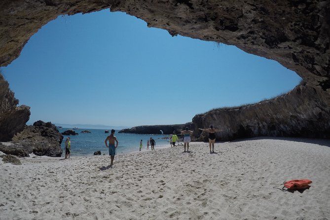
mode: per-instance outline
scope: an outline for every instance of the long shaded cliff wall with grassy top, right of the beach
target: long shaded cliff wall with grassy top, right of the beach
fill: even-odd
[[[198,128],[210,124],[223,129],[216,133],[222,141],[256,136],[330,138],[330,106],[322,92],[305,83],[272,100],[197,114],[192,122],[199,141],[207,141],[208,134]]]

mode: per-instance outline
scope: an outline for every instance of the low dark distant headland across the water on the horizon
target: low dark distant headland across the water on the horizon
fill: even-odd
[[[173,125],[143,125],[132,128],[125,128],[120,130],[118,133],[133,133],[133,134],[161,134],[160,130],[163,131],[164,135],[173,134],[182,131],[185,127],[193,129],[192,123],[186,124],[173,124]]]

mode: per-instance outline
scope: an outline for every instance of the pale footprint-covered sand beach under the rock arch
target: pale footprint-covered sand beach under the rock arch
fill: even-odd
[[[109,169],[109,156],[0,160],[0,219],[330,219],[329,146],[256,138],[210,154],[197,142],[117,155]],[[305,178],[303,193],[273,188]]]

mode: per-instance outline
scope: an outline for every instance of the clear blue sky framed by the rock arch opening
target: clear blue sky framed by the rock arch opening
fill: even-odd
[[[60,16],[2,68],[30,122],[178,124],[196,113],[287,92],[300,77],[279,63],[167,31],[121,12]]]

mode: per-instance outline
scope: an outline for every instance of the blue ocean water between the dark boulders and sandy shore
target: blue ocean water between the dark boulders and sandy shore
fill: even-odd
[[[59,129],[59,132],[64,132],[71,128]],[[88,130],[91,133],[80,133],[83,130]],[[71,156],[88,156],[93,155],[95,151],[100,150],[102,154],[109,155],[109,148],[106,147],[104,141],[110,134],[104,133],[105,130],[101,129],[76,129],[74,130],[79,135],[67,136],[64,135],[63,142],[61,144],[62,149],[65,147],[65,140],[67,137],[71,139]],[[110,131],[110,130],[109,130]],[[164,137],[169,137],[169,135],[138,135],[138,134],[119,134],[116,130],[114,136],[117,137],[119,142],[116,149],[116,153],[127,153],[139,150],[140,141],[143,141],[143,148],[147,148],[147,140],[152,137],[156,146],[155,149],[159,146],[170,145],[168,139],[161,139]],[[149,147],[151,149],[151,147]],[[62,157],[65,156],[65,151],[63,151]]]

